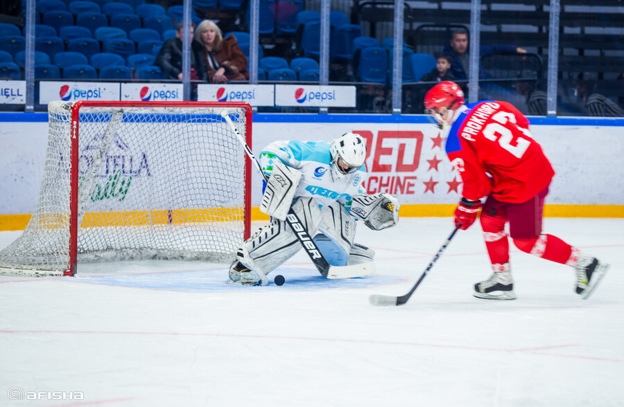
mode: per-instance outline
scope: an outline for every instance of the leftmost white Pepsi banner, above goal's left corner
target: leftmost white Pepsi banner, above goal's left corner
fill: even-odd
[[[40,82],[39,103],[47,105],[52,100],[119,100],[117,82]]]

